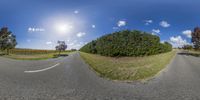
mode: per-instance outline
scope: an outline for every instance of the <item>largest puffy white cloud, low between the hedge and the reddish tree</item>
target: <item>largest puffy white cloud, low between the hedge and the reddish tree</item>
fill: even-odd
[[[170,43],[174,47],[182,47],[183,45],[190,44],[185,39],[183,39],[180,35],[176,37],[175,36],[170,37]]]

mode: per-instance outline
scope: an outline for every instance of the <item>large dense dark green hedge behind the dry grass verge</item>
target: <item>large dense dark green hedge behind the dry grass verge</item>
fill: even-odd
[[[160,38],[141,31],[119,31],[94,40],[80,51],[104,56],[145,56],[172,50],[168,42],[160,43]]]

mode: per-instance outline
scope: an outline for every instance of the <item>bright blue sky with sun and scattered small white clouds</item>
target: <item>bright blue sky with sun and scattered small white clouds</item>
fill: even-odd
[[[17,48],[68,49],[112,32],[145,31],[174,47],[191,44],[200,26],[200,0],[0,0],[0,27],[8,27]]]

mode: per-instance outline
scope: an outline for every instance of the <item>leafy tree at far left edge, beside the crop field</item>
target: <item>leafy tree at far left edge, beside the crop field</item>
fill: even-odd
[[[16,36],[8,30],[7,27],[3,27],[0,30],[0,49],[6,50],[9,54],[9,50],[15,48],[17,45]]]

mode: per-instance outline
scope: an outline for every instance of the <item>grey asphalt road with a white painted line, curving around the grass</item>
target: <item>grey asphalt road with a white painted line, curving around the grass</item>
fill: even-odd
[[[177,54],[148,82],[98,77],[78,53],[20,61],[0,57],[0,100],[200,100],[200,58]]]

